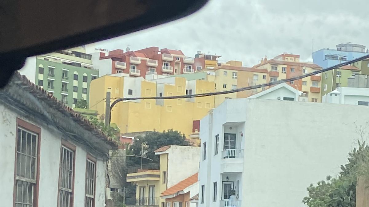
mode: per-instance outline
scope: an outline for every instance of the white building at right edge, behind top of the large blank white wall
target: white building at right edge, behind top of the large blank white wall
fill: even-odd
[[[365,74],[356,74],[347,80],[348,87],[340,87],[326,94],[323,103],[369,105],[369,82]]]

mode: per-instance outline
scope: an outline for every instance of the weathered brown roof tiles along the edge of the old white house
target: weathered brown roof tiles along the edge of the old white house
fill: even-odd
[[[31,83],[30,80],[24,75],[21,75],[19,72],[14,73],[14,81],[18,85],[21,85],[22,88],[30,91],[31,94],[35,96],[37,99],[41,99],[51,108],[58,110],[59,112],[66,112],[70,118],[70,121],[74,122],[71,124],[79,124],[87,131],[91,131],[94,136],[103,139],[104,142],[109,144],[111,147],[118,147],[118,144],[113,139],[106,136],[106,134],[102,133],[97,127],[95,127],[89,120],[85,119],[83,115],[75,113],[72,108],[66,106],[63,102],[58,101],[54,96],[47,93],[43,88]]]

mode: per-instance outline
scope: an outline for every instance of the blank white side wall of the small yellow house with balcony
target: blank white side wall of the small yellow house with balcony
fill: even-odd
[[[172,145],[168,152],[168,188],[199,170],[200,147]]]

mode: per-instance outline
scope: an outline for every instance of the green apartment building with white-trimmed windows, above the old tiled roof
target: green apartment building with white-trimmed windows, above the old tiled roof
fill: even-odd
[[[88,104],[90,83],[99,76],[99,70],[93,69],[91,55],[83,48],[37,56],[35,68],[35,84],[73,108],[77,99],[85,99]]]

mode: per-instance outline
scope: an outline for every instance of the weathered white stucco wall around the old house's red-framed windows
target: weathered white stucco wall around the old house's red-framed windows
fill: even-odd
[[[17,117],[32,123],[25,117],[19,116],[8,108],[0,105],[0,182],[1,206],[13,206],[14,188],[14,162],[15,162],[15,136]],[[60,165],[61,137],[63,134],[55,129],[41,127],[40,164],[39,164],[39,207],[56,206],[58,202],[58,180]],[[74,206],[85,206],[85,180],[87,151],[78,143],[69,141],[76,145],[75,153],[75,184],[74,184]],[[95,156],[96,157],[96,156]],[[95,206],[104,206],[105,203],[105,181],[106,162],[97,158],[96,164],[96,203]]]

